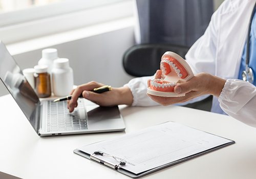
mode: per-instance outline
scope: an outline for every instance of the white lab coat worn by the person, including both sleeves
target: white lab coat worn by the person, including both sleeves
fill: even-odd
[[[224,79],[238,78],[249,19],[255,2],[256,0],[226,0],[222,3],[212,15],[204,35],[193,44],[185,56],[194,74],[206,72]],[[147,79],[152,77],[135,78],[125,85],[129,86],[133,93],[134,106],[157,105],[146,95]],[[244,90],[245,88],[247,90]],[[189,102],[199,101],[205,97],[207,96]],[[238,103],[240,105],[237,105]],[[213,100],[212,111],[218,113],[220,106],[228,115],[256,127],[254,85],[238,80],[227,80],[219,99]]]

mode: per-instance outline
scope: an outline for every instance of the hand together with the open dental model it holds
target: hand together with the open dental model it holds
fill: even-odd
[[[147,94],[165,106],[186,102],[206,94],[219,97],[226,82],[207,73],[194,76],[186,61],[173,52],[164,53],[160,68],[161,70],[155,74],[155,79],[147,81]]]

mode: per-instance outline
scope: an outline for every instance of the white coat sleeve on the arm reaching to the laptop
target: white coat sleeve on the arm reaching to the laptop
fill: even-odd
[[[139,77],[130,80],[124,86],[130,88],[133,95],[132,106],[156,106],[159,103],[147,96],[147,80],[154,79],[154,76]]]

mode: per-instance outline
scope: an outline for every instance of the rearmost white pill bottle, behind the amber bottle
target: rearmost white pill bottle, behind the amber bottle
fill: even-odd
[[[42,50],[42,58],[38,61],[38,65],[47,65],[48,73],[51,74],[53,67],[53,60],[58,58],[57,49],[44,49]]]

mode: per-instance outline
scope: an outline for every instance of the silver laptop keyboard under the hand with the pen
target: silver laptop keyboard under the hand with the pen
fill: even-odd
[[[86,111],[82,102],[69,113],[66,101],[48,101],[47,131],[70,131],[87,129]],[[80,113],[80,115],[79,115]],[[83,115],[81,115],[83,114]],[[80,119],[81,118],[81,119]]]

